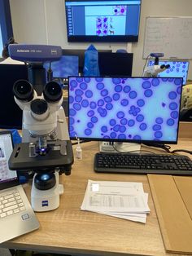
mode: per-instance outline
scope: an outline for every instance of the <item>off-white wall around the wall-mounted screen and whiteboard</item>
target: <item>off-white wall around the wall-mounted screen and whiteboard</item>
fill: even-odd
[[[59,45],[63,49],[86,49],[89,43],[68,43],[64,0],[10,0],[15,41]],[[133,76],[141,76],[147,16],[191,16],[192,0],[142,0],[138,42],[94,43],[97,49],[127,49],[133,52]],[[191,46],[192,51],[192,46]],[[188,78],[192,79],[192,61]]]

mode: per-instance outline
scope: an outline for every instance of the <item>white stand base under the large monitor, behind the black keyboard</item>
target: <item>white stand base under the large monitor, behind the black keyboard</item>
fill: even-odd
[[[140,143],[99,141],[100,152],[131,152],[140,151]]]

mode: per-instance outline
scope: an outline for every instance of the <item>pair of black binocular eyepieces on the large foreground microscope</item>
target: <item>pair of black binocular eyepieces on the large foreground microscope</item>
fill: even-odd
[[[55,81],[46,83],[42,93],[46,102],[50,104],[58,102],[63,96],[61,86],[59,86],[59,83]],[[15,95],[16,99],[27,103],[33,100],[34,89],[27,80],[18,80],[13,86],[13,94]]]

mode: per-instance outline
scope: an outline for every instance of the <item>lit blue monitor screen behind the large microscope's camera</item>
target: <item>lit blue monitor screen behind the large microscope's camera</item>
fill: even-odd
[[[69,76],[79,75],[78,56],[63,55],[60,60],[50,63],[44,63],[44,68],[48,70],[51,67],[54,78],[68,78]]]

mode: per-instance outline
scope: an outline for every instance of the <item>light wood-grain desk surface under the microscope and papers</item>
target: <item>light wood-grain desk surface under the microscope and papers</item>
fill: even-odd
[[[83,160],[75,160],[70,176],[63,174],[60,177],[64,193],[60,197],[59,208],[37,213],[41,225],[39,230],[7,241],[1,246],[58,254],[172,255],[166,254],[164,250],[147,176],[97,174],[93,170],[93,161],[94,153],[98,152],[98,143],[84,143],[82,148]],[[189,139],[183,138],[173,148],[191,149],[191,143]],[[146,224],[81,211],[88,179],[142,182],[144,191],[149,193],[151,209]],[[30,197],[30,186],[25,185],[25,190]]]

